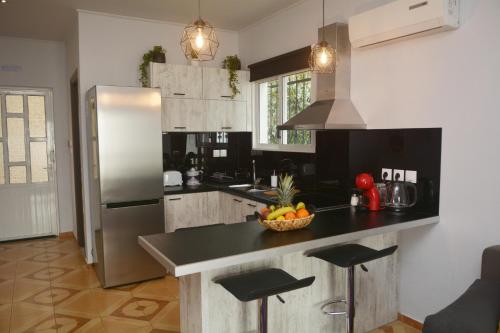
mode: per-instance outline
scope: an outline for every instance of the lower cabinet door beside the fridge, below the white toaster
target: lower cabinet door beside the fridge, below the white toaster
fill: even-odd
[[[166,195],[165,232],[206,224],[206,211],[206,193]]]

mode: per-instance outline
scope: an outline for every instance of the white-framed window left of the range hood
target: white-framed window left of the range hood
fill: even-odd
[[[314,152],[314,132],[282,131],[276,127],[311,103],[311,73],[300,71],[260,81],[256,84],[257,108],[254,148]]]

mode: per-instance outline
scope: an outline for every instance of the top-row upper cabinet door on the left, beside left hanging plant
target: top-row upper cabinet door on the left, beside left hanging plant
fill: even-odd
[[[202,69],[196,66],[157,64],[150,66],[151,87],[159,87],[162,97],[201,99]]]

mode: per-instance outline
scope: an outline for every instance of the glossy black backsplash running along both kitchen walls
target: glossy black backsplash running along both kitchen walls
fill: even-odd
[[[293,174],[302,189],[346,192],[361,172],[381,181],[382,168],[416,170],[420,204],[438,209],[441,133],[440,128],[318,131],[315,154],[254,151],[251,133],[168,133],[163,135],[164,169],[184,172],[195,158],[206,175],[249,177],[255,160],[257,177],[265,183],[276,170]],[[186,154],[188,135],[196,140],[196,154]],[[227,150],[227,157],[213,157],[213,151],[221,149]]]

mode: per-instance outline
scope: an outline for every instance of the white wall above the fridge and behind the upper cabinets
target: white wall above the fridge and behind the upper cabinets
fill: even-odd
[[[187,22],[186,22],[187,23]],[[187,64],[180,48],[181,33],[185,24],[159,22],[130,17],[80,11],[78,13],[78,47],[80,72],[80,112],[85,112],[85,93],[94,85],[140,86],[139,64],[142,55],[154,45],[167,50],[167,62]],[[220,47],[213,62],[206,66],[220,66],[227,55],[238,54],[238,34],[217,30]],[[84,117],[81,117],[82,136]],[[83,143],[82,151],[86,150]],[[82,163],[87,163],[82,160]],[[83,170],[84,192],[88,193],[88,168]],[[86,196],[88,197],[88,196]],[[85,202],[85,210],[89,211]],[[90,239],[90,221],[86,218],[86,244]],[[87,247],[90,259],[90,247]]]

